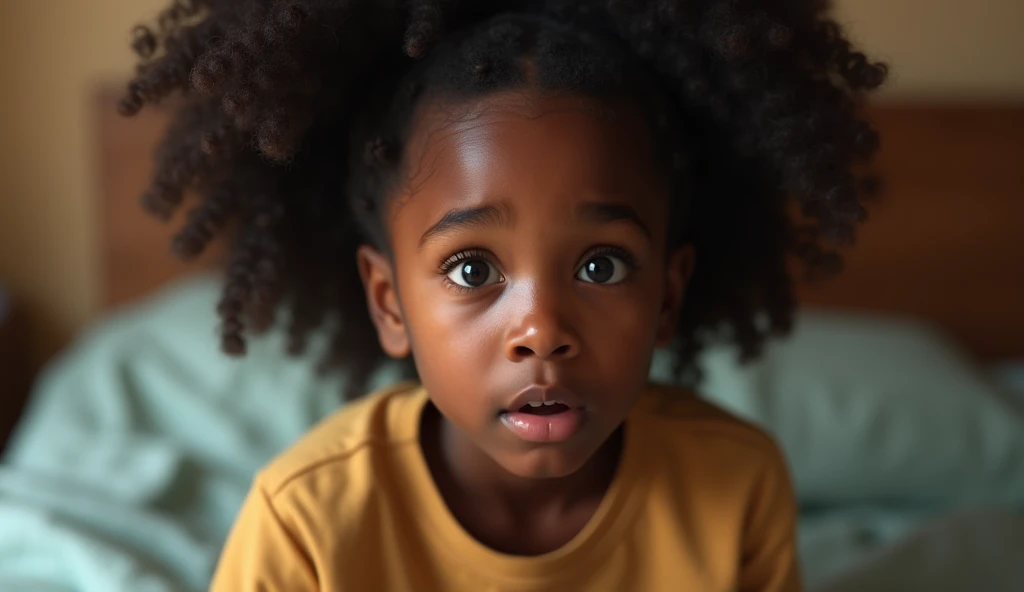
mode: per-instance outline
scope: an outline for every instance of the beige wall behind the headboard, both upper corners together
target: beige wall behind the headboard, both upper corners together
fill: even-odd
[[[0,281],[48,355],[98,302],[88,99],[129,72],[128,31],[163,0],[0,0]],[[839,0],[895,69],[889,97],[1024,99],[1024,1]]]

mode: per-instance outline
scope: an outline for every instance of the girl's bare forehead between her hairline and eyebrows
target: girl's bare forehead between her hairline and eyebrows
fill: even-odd
[[[515,215],[628,201],[656,216],[667,192],[652,149],[643,117],[629,105],[529,90],[429,100],[406,145],[392,224],[409,214],[429,224],[452,208],[499,202]]]

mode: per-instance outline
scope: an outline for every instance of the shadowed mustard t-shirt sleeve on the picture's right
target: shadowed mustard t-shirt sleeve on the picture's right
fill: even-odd
[[[739,591],[803,589],[797,556],[797,500],[785,461],[773,447],[751,500]]]

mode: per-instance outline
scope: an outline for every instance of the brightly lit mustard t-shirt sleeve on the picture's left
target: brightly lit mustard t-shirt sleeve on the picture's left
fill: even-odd
[[[308,554],[257,484],[249,492],[227,537],[210,585],[212,592],[319,590]]]

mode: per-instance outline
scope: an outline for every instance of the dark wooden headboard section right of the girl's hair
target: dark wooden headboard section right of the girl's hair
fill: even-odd
[[[1024,104],[879,107],[885,191],[809,304],[932,321],[981,358],[1024,356]]]

